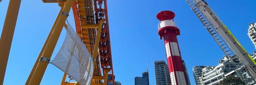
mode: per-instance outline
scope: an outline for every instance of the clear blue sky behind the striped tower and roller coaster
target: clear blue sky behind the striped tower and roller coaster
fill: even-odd
[[[256,22],[256,1],[206,1],[251,54],[255,49],[247,30],[249,23]],[[0,3],[0,33],[8,3],[8,0]],[[25,84],[60,9],[57,3],[42,3],[41,0],[22,0],[20,6],[4,85]],[[215,66],[224,55],[185,0],[108,0],[114,74],[116,81],[122,85],[133,85],[134,77],[142,76],[149,61],[150,85],[156,84],[154,61],[166,61],[163,40],[157,33],[159,20],[156,18],[157,13],[163,10],[176,13],[174,20],[181,31],[178,41],[192,85],[195,85],[193,66]],[[75,27],[72,12],[68,20]],[[65,30],[52,58],[64,38]],[[41,85],[59,85],[62,76],[63,72],[49,64]]]

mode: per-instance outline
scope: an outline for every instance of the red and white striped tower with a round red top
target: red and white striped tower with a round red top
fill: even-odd
[[[171,84],[187,85],[177,40],[177,35],[180,35],[180,30],[175,27],[174,16],[175,14],[172,11],[162,11],[157,14],[157,19],[160,20],[158,24],[158,34],[160,35],[160,39],[163,37],[165,42]]]

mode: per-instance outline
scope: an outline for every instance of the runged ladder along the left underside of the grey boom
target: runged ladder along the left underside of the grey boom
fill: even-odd
[[[214,40],[218,43],[219,47],[221,47],[222,51],[227,55],[229,58],[236,57],[236,53],[234,53],[234,50],[229,46],[229,44],[226,42],[226,40],[223,38],[223,36],[218,32],[217,28],[214,24],[208,19],[208,17],[205,15],[204,11],[199,8],[200,5],[195,0],[186,0],[189,4],[192,11],[196,14],[196,16],[199,18],[199,20],[203,23],[203,25],[206,27],[207,31],[211,34],[211,36],[214,38]],[[207,4],[207,3],[206,3]],[[207,4],[208,5],[208,4]],[[241,60],[238,60],[241,62]],[[231,61],[233,64],[234,61]],[[246,78],[246,75],[249,75],[249,78],[252,78],[251,74],[248,73],[248,69],[243,65],[241,67],[237,67],[237,70],[242,74],[243,80],[249,83],[248,78]],[[244,71],[246,70],[246,72]]]

